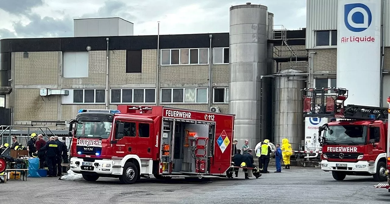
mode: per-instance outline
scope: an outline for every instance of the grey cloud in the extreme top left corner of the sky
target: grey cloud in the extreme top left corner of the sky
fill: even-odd
[[[34,7],[43,5],[43,0],[0,0],[0,9],[10,14],[28,14]]]

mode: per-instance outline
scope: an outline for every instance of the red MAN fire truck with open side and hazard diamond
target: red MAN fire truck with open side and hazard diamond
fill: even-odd
[[[163,106],[82,109],[70,122],[70,167],[87,181],[212,178],[230,168],[234,115]],[[74,129],[73,129],[74,126]]]

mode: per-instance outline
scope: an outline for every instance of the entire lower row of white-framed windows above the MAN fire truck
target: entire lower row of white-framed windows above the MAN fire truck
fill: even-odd
[[[111,89],[110,103],[156,103],[156,89]],[[105,89],[71,89],[63,104],[103,104]],[[207,88],[161,88],[161,103],[208,103]],[[214,88],[213,103],[228,103],[229,88]]]

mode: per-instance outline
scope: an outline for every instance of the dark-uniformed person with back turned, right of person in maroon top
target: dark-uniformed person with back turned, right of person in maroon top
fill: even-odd
[[[41,148],[42,151],[46,151],[46,158],[48,161],[49,175],[48,177],[57,176],[57,158],[61,156],[61,149],[58,146],[58,143],[54,141],[54,137],[50,137],[50,141],[46,143],[44,147]]]

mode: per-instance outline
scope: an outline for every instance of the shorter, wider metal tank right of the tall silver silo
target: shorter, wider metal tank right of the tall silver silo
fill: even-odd
[[[304,73],[300,70],[286,69],[280,74]],[[287,138],[293,150],[298,150],[304,139],[303,98],[301,89],[305,88],[305,76],[275,77],[274,92],[274,143],[282,145]]]

